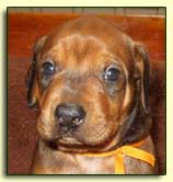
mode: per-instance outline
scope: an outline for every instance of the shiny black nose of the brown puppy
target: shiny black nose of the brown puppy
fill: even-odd
[[[81,105],[72,103],[62,103],[56,107],[55,115],[61,127],[77,128],[85,116],[85,112]]]

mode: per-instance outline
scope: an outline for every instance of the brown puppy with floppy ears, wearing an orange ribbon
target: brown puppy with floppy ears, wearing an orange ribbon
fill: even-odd
[[[148,55],[112,23],[79,18],[42,37],[27,76],[28,104],[41,109],[33,173],[115,173],[114,156],[83,153],[140,140],[138,148],[154,152]],[[125,173],[155,172],[126,155],[124,166]]]

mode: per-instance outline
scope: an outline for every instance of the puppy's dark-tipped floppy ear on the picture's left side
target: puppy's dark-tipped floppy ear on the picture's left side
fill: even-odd
[[[30,66],[25,83],[27,88],[27,104],[28,106],[34,106],[37,102],[38,96],[38,86],[37,86],[37,58],[41,53],[42,47],[46,41],[46,36],[41,37],[36,44],[34,45],[34,54],[33,54],[33,61]]]

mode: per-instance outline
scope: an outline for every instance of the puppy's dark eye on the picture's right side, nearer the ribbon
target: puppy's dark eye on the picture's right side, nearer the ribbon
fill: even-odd
[[[116,81],[119,77],[119,73],[120,73],[120,71],[117,68],[111,67],[111,68],[106,69],[104,79],[108,80],[108,81]]]

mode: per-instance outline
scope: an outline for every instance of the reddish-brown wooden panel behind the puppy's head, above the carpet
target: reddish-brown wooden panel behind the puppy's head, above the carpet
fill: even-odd
[[[10,13],[8,30],[9,55],[31,56],[36,39],[78,14]],[[152,59],[164,59],[164,19],[157,16],[105,15],[134,39],[147,45]]]

